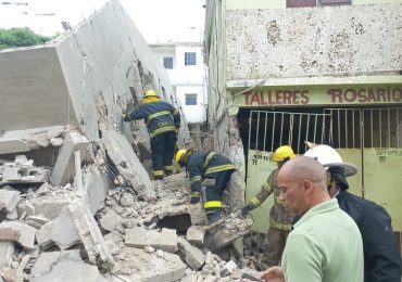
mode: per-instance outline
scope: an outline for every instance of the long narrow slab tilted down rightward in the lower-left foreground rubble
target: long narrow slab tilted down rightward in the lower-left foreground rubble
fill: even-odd
[[[111,269],[114,266],[113,256],[103,240],[89,207],[81,200],[77,198],[68,205],[68,210],[87,252],[89,261],[101,268]]]

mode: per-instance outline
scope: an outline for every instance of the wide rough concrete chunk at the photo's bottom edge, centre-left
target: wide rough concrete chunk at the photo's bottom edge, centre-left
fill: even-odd
[[[125,247],[121,257],[129,259],[118,260],[112,272],[126,281],[173,282],[186,274],[186,265],[175,254],[164,252],[163,257],[159,257],[156,253]]]

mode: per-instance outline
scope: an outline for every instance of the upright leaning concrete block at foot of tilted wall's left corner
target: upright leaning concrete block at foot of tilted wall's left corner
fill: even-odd
[[[80,151],[81,161],[86,156],[89,141],[78,132],[71,131],[61,146],[58,159],[50,176],[54,185],[64,185],[75,176],[74,152]]]

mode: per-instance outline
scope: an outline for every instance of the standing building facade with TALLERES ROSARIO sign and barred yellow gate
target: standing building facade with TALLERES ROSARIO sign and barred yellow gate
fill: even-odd
[[[334,146],[359,174],[351,192],[382,205],[402,231],[401,1],[208,1],[205,63],[214,150],[251,197],[269,154],[304,141]],[[272,203],[253,211],[267,229]]]

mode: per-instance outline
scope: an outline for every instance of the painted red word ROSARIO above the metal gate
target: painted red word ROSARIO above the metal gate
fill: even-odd
[[[329,89],[327,94],[330,95],[331,102],[335,104],[400,102],[402,88],[334,88]]]

